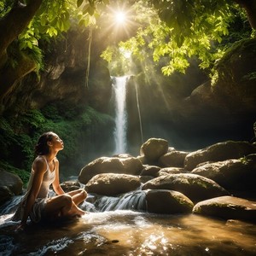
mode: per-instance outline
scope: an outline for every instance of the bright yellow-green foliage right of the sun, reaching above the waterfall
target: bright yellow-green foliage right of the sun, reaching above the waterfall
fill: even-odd
[[[212,69],[230,44],[254,36],[244,9],[236,3],[148,1],[152,4],[147,6],[144,2],[137,1],[133,6],[136,15],[132,17],[141,24],[136,36],[120,42],[118,47],[109,46],[102,54],[117,73],[119,66],[115,62],[124,62],[127,52],[133,61],[158,63],[165,75],[185,73],[195,57],[199,67]],[[127,22],[127,26],[131,25]],[[125,68],[127,71],[130,67]]]

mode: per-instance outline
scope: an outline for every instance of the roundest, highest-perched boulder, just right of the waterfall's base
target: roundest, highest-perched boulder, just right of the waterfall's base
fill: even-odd
[[[157,161],[160,156],[168,152],[168,142],[161,138],[150,138],[143,143],[140,154],[145,156],[149,163]]]

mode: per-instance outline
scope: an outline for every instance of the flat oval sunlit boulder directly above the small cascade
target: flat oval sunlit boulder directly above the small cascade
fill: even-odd
[[[102,173],[92,177],[84,189],[98,195],[119,195],[138,189],[141,185],[137,176],[118,173]]]

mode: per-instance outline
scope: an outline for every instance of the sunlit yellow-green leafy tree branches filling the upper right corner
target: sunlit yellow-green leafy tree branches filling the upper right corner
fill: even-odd
[[[119,46],[131,50],[137,59],[148,52],[154,61],[164,59],[162,72],[166,75],[174,71],[184,73],[193,56],[201,61],[201,68],[212,67],[224,54],[224,45],[220,44],[229,36],[237,17],[245,21],[247,16],[255,27],[256,1],[148,0],[148,6],[145,1],[137,2],[141,3],[137,19],[143,13],[150,15],[150,21],[138,30],[136,37]],[[150,11],[142,11],[145,8]],[[249,25],[247,29],[252,31]]]

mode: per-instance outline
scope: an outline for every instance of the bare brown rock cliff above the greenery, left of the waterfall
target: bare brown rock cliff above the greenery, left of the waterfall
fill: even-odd
[[[111,97],[111,79],[106,63],[99,56],[100,42],[94,40],[89,86],[85,85],[88,36],[88,31],[82,32],[76,28],[53,43],[45,54],[44,71],[40,73],[39,81],[32,74],[16,84],[4,99],[2,112],[7,109],[43,108],[49,102],[62,100],[71,107],[90,104],[96,110],[106,111]]]

